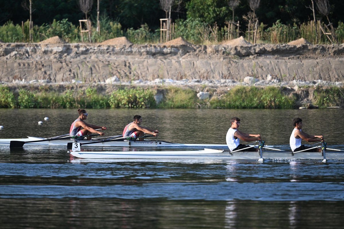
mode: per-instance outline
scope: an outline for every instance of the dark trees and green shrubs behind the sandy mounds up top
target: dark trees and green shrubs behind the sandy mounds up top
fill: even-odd
[[[33,42],[40,42],[53,36],[59,36],[69,43],[81,41],[79,20],[85,19],[86,16],[76,7],[75,0],[30,0],[31,14],[28,2],[28,0],[1,1],[0,39],[2,41],[29,42],[30,15],[33,22]],[[309,0],[260,0],[254,18],[250,1],[238,1],[236,7],[228,4],[230,2],[233,3],[232,0],[174,1],[171,11],[165,12],[158,0],[102,0],[99,1],[99,12],[97,12],[96,1],[93,1],[87,18],[92,25],[92,42],[125,36],[136,44],[158,43],[160,19],[170,15],[171,22],[174,23],[172,39],[181,36],[193,44],[221,43],[227,39],[228,23],[232,21],[239,22],[238,36],[247,38],[248,31],[252,30],[248,25],[254,23],[253,19],[259,22],[257,43],[288,43],[301,37],[313,44],[331,43],[323,32],[319,37],[319,22],[324,32],[333,30],[339,44],[344,43],[343,1],[326,0],[325,10],[320,10],[318,1],[315,1],[315,24],[312,20],[313,11],[309,7]],[[96,26],[98,13],[99,33]],[[82,26],[86,28],[85,25]],[[333,29],[330,28],[331,26]],[[234,36],[232,38],[237,37],[236,32],[232,35]],[[250,36],[252,35],[251,33]]]

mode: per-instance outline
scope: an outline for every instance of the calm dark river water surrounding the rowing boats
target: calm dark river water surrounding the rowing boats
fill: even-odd
[[[0,138],[67,134],[76,110],[0,109]],[[140,114],[143,126],[160,130],[157,139],[209,144],[225,144],[237,116],[240,130],[286,149],[291,121],[300,117],[306,133],[344,149],[344,110],[87,112],[86,122],[107,126],[107,136]],[[343,216],[343,161],[92,161],[63,147],[0,148],[1,229],[343,229]]]

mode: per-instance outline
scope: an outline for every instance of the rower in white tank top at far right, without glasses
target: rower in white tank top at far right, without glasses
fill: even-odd
[[[309,135],[301,130],[303,124],[301,118],[294,118],[293,119],[293,126],[294,129],[290,135],[290,148],[293,152],[297,152],[300,150],[308,151],[308,152],[321,152],[320,148],[312,148],[309,146],[301,145],[301,139],[307,142],[317,142],[324,140],[322,135]],[[312,149],[311,149],[312,148]]]

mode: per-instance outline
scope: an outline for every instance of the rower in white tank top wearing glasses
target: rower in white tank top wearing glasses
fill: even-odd
[[[242,149],[243,151],[258,151],[258,149],[240,144],[240,140],[243,141],[261,141],[260,134],[246,134],[238,130],[240,126],[240,118],[233,117],[231,120],[231,127],[227,131],[226,142],[230,151],[236,151]],[[240,140],[239,140],[240,139]],[[247,148],[247,149],[246,149]]]

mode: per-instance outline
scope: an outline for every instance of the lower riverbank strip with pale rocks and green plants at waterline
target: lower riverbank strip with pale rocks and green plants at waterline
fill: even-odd
[[[172,80],[156,80],[154,85],[12,83],[0,86],[0,107],[344,108],[343,85],[330,86],[331,83],[323,81],[305,83],[281,82],[270,86],[259,86],[260,82],[214,86],[214,82]]]

